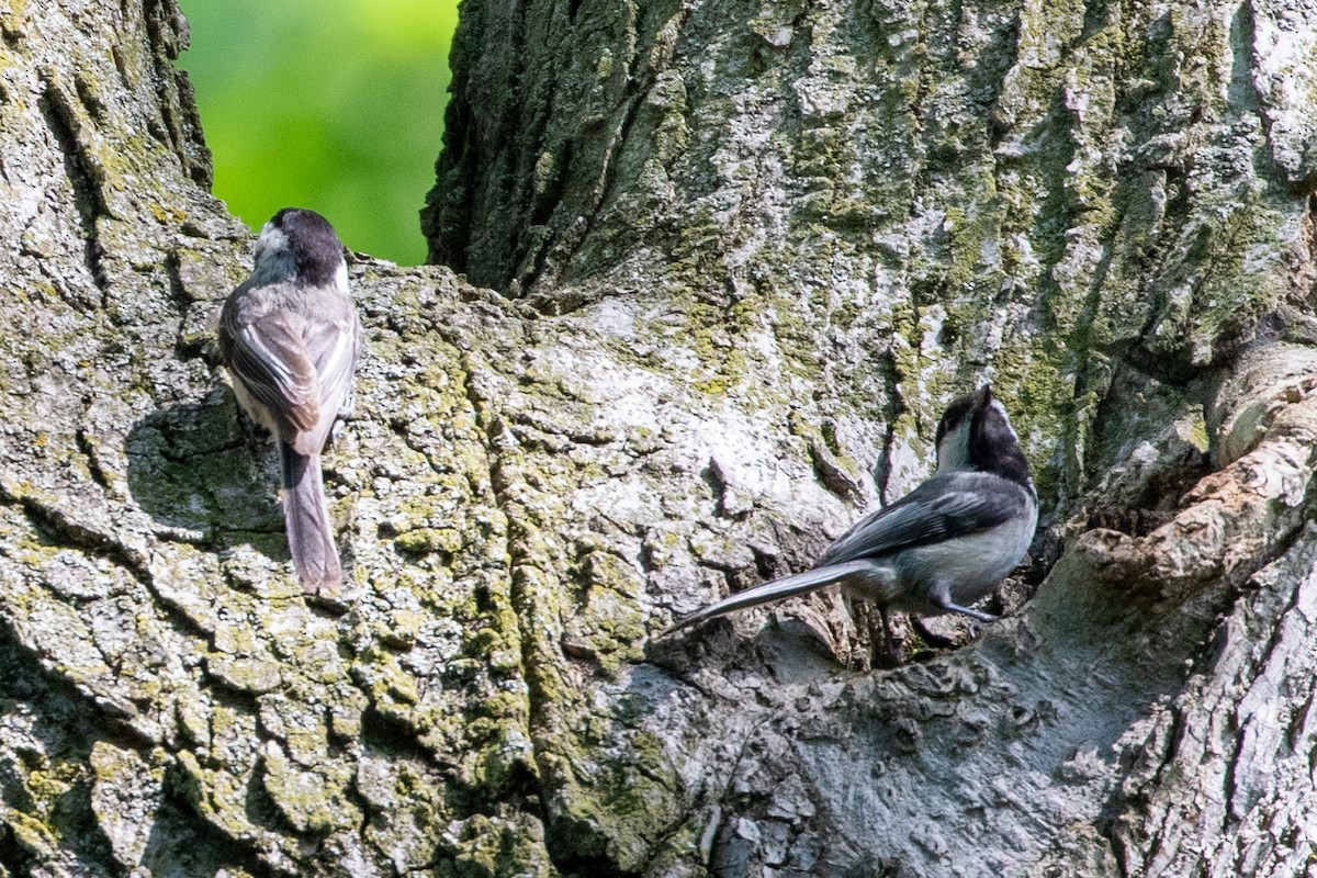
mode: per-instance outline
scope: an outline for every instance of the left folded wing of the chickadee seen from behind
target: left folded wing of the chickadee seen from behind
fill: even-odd
[[[242,320],[238,307],[225,304],[220,346],[225,365],[281,426],[292,432],[315,429],[320,420],[316,365],[284,312],[267,311]]]

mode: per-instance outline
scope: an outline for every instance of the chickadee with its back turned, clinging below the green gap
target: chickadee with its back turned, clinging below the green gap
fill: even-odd
[[[233,392],[279,441],[288,550],[308,594],[333,591],[342,566],[329,525],[320,453],[352,412],[361,324],[348,265],[319,213],[284,208],[261,229],[252,276],[220,312]]]

